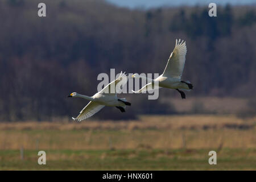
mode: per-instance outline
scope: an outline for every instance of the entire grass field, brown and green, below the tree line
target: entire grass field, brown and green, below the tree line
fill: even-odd
[[[1,123],[0,169],[255,170],[255,123],[232,115]],[[38,164],[40,150],[46,165]],[[210,150],[217,152],[217,165],[208,163]]]

